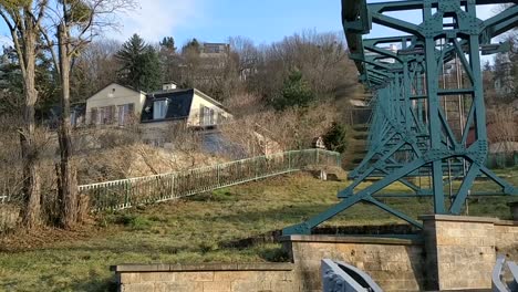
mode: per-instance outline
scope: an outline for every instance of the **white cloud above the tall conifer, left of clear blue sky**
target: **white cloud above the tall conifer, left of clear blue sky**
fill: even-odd
[[[118,31],[107,35],[125,41],[138,33],[149,42],[157,42],[164,36],[174,35],[175,29],[190,25],[200,20],[203,0],[137,0],[134,11],[118,15]]]

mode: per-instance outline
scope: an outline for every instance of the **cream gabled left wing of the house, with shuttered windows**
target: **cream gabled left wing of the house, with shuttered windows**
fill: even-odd
[[[111,83],[86,100],[86,125],[125,126],[139,119],[146,93]]]

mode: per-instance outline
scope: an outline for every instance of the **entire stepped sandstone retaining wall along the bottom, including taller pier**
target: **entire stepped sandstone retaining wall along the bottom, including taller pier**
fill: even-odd
[[[518,222],[425,216],[424,240],[291,236],[293,263],[116,265],[124,292],[321,291],[322,259],[355,265],[384,291],[490,289],[497,254],[518,261]]]

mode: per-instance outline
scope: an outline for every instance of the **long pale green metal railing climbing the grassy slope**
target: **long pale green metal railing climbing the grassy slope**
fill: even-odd
[[[258,156],[215,166],[79,186],[92,210],[121,210],[136,205],[167,201],[310,166],[340,166],[340,154],[305,149]]]

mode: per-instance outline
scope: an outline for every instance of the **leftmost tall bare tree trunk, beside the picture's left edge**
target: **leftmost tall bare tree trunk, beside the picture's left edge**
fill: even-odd
[[[39,149],[35,142],[34,106],[38,101],[35,90],[35,34],[37,29],[28,21],[24,33],[24,50],[19,55],[24,59],[23,86],[25,103],[23,106],[23,126],[20,129],[21,157],[23,165],[24,208],[22,223],[33,229],[41,222],[41,184],[39,175]]]

